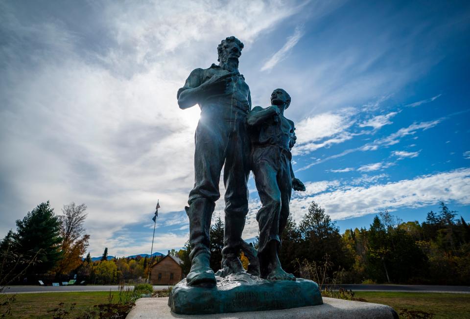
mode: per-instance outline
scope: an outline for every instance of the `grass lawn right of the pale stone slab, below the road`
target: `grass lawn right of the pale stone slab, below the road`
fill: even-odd
[[[368,302],[389,305],[397,313],[405,308],[432,313],[434,314],[432,318],[470,318],[470,294],[372,291],[355,291],[354,294]]]

